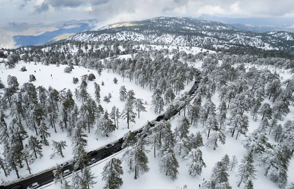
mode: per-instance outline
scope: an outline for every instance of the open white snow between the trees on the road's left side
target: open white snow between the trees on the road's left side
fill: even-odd
[[[123,58],[127,58],[128,55],[123,55]],[[22,66],[26,66],[27,71],[21,72],[19,71]],[[124,102],[120,101],[119,99],[119,89],[122,85],[125,85],[125,88],[127,90],[134,90],[135,97],[136,98],[142,98],[145,102],[147,101],[148,105],[146,106],[147,112],[140,112],[140,119],[138,116],[136,117],[136,123],[131,123],[129,125],[130,130],[139,129],[140,127],[144,126],[147,121],[151,121],[155,119],[158,114],[155,114],[154,111],[151,109],[151,96],[153,94],[153,90],[150,92],[148,87],[142,88],[140,85],[136,85],[134,81],[130,82],[128,78],[120,77],[119,74],[113,73],[112,71],[107,73],[107,70],[102,71],[102,75],[99,77],[97,72],[95,70],[87,69],[84,67],[74,66],[74,69],[71,73],[64,73],[64,67],[65,65],[60,65],[60,67],[56,67],[56,65],[50,64],[49,66],[42,65],[41,63],[37,63],[37,65],[34,65],[34,63],[24,63],[23,61],[16,64],[16,67],[13,69],[5,69],[4,64],[0,64],[0,78],[7,86],[7,76],[16,76],[18,78],[18,82],[21,86],[28,82],[29,75],[33,74],[36,77],[36,81],[32,82],[36,87],[39,85],[43,85],[45,88],[48,89],[49,85],[51,85],[53,88],[57,89],[58,91],[68,88],[71,89],[72,92],[74,92],[74,89],[79,86],[80,82],[78,84],[73,84],[73,77],[77,77],[80,80],[80,77],[85,74],[94,73],[96,76],[96,80],[89,81],[88,82],[88,92],[92,96],[93,99],[95,99],[94,96],[94,82],[100,85],[100,96],[101,96],[101,105],[104,108],[104,110],[108,110],[108,113],[110,113],[111,108],[113,105],[118,107],[120,109],[120,112],[122,112],[124,107]],[[40,71],[41,70],[41,71]],[[88,72],[88,70],[90,72]],[[34,72],[36,71],[36,73]],[[3,72],[3,73],[2,73]],[[51,75],[52,74],[52,78]],[[118,79],[118,84],[114,84],[113,79]],[[104,82],[104,86],[101,85],[101,82]],[[193,86],[194,82],[189,83],[185,86],[185,90],[181,91],[180,94],[182,94],[184,91],[190,90]],[[0,89],[0,92],[3,92],[3,89]],[[112,98],[110,103],[106,103],[103,101],[103,97],[107,96],[108,93],[111,93]],[[74,98],[75,103],[80,106],[82,102],[78,101],[76,98]],[[9,115],[9,111],[6,113]],[[10,117],[6,121],[6,123],[10,122]],[[88,133],[88,130],[85,130],[85,133],[88,135],[88,146],[86,147],[87,151],[91,151],[94,149],[98,149],[100,147],[104,147],[106,144],[111,143],[113,141],[118,140],[119,138],[123,137],[123,135],[128,131],[126,120],[119,120],[119,129],[115,132],[109,134],[109,137],[102,137],[100,135],[95,134],[96,126],[90,130],[90,133]],[[49,144],[51,144],[51,140],[54,141],[61,141],[66,140],[68,147],[64,150],[65,157],[62,158],[61,156],[55,156],[54,158],[50,159],[49,156],[53,152],[51,146],[43,146],[43,155],[44,157],[41,159],[37,159],[30,167],[32,174],[39,173],[41,171],[53,168],[57,164],[64,163],[65,161],[70,160],[72,156],[72,147],[71,147],[71,141],[70,138],[67,137],[66,132],[62,132],[62,130],[56,126],[57,133],[54,133],[53,128],[49,128],[49,132],[51,133],[51,136],[49,137],[48,141]],[[29,129],[26,129],[28,132],[28,136],[34,135],[35,133],[32,132]],[[38,139],[41,139],[40,136],[38,136]],[[24,141],[24,144],[26,144],[27,139]],[[0,153],[2,153],[2,146],[0,146]],[[21,168],[19,170],[19,174],[22,178],[25,178],[28,176],[28,171],[24,168]],[[3,179],[6,182],[9,181],[15,181],[17,180],[17,176],[14,171],[10,173],[8,177],[4,176],[4,173],[0,172],[0,179]]]

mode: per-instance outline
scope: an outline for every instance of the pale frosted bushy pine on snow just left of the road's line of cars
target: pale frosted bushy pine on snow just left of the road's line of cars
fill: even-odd
[[[107,136],[108,133],[115,131],[116,126],[113,124],[112,120],[108,116],[107,110],[104,113],[104,116],[99,118],[97,124],[96,134],[101,134],[102,136]]]

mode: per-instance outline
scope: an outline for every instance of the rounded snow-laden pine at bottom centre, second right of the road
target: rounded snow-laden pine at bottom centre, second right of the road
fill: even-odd
[[[160,172],[165,172],[172,180],[177,179],[179,164],[170,147],[167,148],[159,159]]]

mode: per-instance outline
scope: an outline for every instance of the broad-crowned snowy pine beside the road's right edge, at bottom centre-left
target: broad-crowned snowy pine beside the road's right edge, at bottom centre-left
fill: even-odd
[[[128,172],[135,173],[134,179],[149,171],[148,158],[145,152],[137,147],[126,148],[122,159],[130,168]]]

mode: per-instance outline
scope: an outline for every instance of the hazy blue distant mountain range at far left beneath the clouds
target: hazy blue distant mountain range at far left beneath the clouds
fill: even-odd
[[[96,20],[58,21],[45,23],[16,23],[0,25],[0,48],[15,48],[26,45],[39,45],[58,40],[66,40],[65,34],[76,34],[90,30]],[[55,40],[53,40],[55,39]]]

